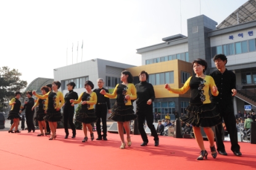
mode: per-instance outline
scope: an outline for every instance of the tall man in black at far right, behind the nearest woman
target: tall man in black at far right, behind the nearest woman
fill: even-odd
[[[227,58],[223,54],[218,54],[213,57],[213,61],[218,70],[210,73],[210,76],[215,81],[218,87],[218,96],[211,97],[212,103],[216,103],[217,111],[224,119],[226,124],[226,130],[229,133],[231,141],[231,150],[234,155],[241,156],[240,146],[237,142],[237,129],[236,118],[234,116],[233,100],[232,97],[236,95],[236,75],[226,69]],[[217,150],[220,155],[228,155],[225,151],[225,146],[222,141],[222,125],[215,126],[215,138],[217,144]]]

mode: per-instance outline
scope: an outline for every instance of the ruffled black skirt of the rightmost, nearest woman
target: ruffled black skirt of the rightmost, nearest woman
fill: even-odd
[[[221,123],[220,114],[216,110],[216,105],[207,103],[202,105],[191,105],[186,108],[187,114],[180,119],[184,123],[192,124],[196,127],[213,127]]]

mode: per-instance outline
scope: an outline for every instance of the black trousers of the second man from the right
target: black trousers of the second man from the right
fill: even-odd
[[[144,142],[149,142],[149,139],[147,139],[147,134],[144,130],[144,122],[145,119],[147,121],[147,127],[151,129],[151,136],[154,136],[154,140],[159,140],[159,137],[157,136],[157,131],[155,130],[155,126],[153,125],[154,121],[154,115],[152,113],[152,107],[149,108],[143,108],[139,109],[137,108],[136,114],[138,115],[138,128],[139,132],[141,133],[141,138]]]

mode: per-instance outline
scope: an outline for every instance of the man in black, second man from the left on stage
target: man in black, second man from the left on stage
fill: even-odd
[[[75,113],[75,108],[74,108],[74,104],[70,103],[70,99],[73,100],[77,100],[78,99],[78,94],[76,92],[73,91],[73,89],[75,88],[75,83],[70,82],[67,84],[67,89],[68,92],[67,94],[65,94],[65,104],[64,104],[64,110],[63,110],[63,120],[64,120],[64,129],[65,129],[65,139],[68,138],[68,123],[72,129],[72,138],[75,138],[76,136],[76,130],[75,130],[75,124],[73,123],[73,117],[74,117],[74,113]]]

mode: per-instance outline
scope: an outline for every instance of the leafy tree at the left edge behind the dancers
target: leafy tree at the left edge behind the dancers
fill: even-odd
[[[22,91],[27,87],[27,81],[20,79],[22,73],[9,67],[0,68],[0,111],[4,103],[15,97],[15,92]]]

